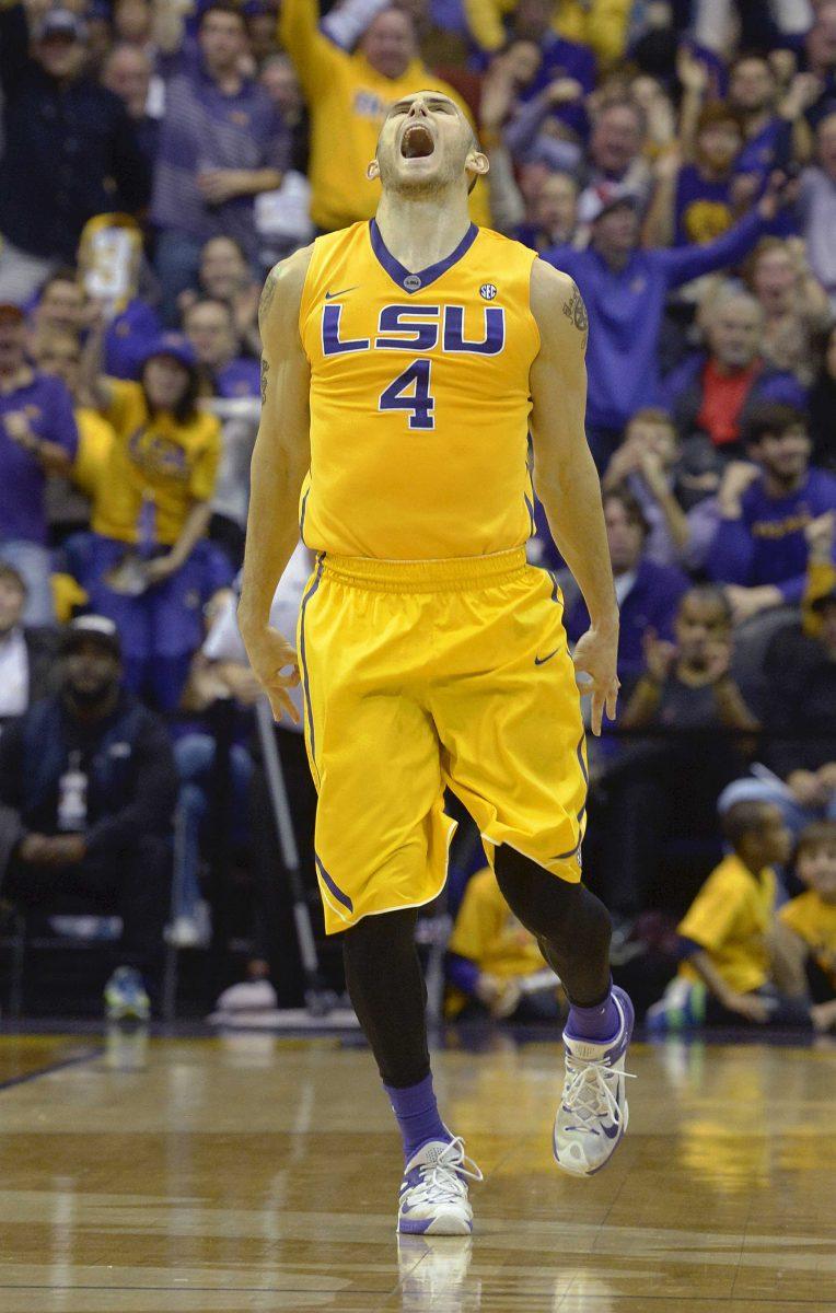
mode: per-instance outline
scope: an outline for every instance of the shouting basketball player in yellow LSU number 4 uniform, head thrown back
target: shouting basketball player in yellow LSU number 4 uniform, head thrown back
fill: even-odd
[[[408,96],[369,165],[377,218],[269,276],[239,611],[277,717],[293,714],[287,689],[302,680],[325,928],[343,932],[403,1134],[398,1228],[430,1234],[472,1229],[467,1178],[480,1179],[438,1115],[415,949],[417,909],[446,878],[445,785],[572,1004],[554,1153],[574,1175],[602,1167],[626,1129],[633,1029],[610,983],[609,915],[580,878],[575,667],[591,678],[596,734],[618,692],[584,437],[587,312],[570,278],[470,223],[469,186],[487,168],[453,101]],[[525,561],[529,424],[537,491],[592,617],[575,666],[560,593]],[[294,653],[268,616],[299,520],[318,559]]]

